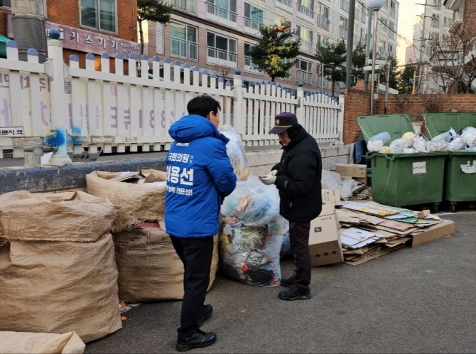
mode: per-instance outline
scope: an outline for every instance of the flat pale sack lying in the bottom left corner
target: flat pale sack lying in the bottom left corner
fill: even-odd
[[[85,353],[85,346],[75,332],[0,332],[0,353],[82,354]]]

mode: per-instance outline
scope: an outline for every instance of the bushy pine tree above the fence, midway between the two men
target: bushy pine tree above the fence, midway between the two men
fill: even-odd
[[[259,32],[261,40],[249,50],[254,65],[267,73],[271,81],[288,76],[288,70],[296,64],[301,39],[291,31],[288,23],[261,26]]]

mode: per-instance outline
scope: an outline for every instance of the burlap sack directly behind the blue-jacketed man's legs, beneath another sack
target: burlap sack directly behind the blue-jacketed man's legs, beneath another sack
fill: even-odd
[[[158,225],[117,232],[114,245],[120,301],[183,299],[182,261],[175,253],[170,237]],[[215,281],[217,266],[218,242],[214,237],[208,289]]]

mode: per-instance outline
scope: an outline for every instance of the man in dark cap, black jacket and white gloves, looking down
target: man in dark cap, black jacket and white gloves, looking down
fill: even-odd
[[[290,112],[276,115],[275,126],[269,134],[278,134],[283,155],[271,173],[259,179],[278,188],[279,213],[289,221],[291,253],[296,266],[291,277],[281,279],[281,285],[289,289],[280,291],[278,296],[283,300],[310,299],[309,228],[323,204],[319,146]]]

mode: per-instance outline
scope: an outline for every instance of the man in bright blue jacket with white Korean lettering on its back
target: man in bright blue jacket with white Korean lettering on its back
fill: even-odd
[[[195,97],[188,102],[188,115],[168,129],[174,141],[166,159],[166,232],[185,269],[178,351],[206,347],[217,340],[215,333],[205,333],[200,326],[213,310],[204,302],[220,205],[237,184],[225,147],[229,139],[217,130],[220,109],[210,96]]]

